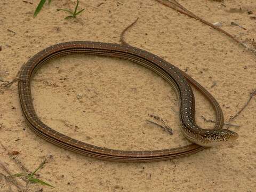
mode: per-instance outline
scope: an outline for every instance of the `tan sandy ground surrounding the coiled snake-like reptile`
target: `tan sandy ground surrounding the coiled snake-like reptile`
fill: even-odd
[[[256,89],[256,56],[203,23],[156,1],[85,1],[77,20],[64,20],[58,8],[72,1],[52,1],[38,17],[39,1],[0,2],[0,82],[11,81],[38,51],[67,41],[119,43],[122,30],[139,17],[125,38],[194,77],[219,101],[225,121],[234,116]],[[67,2],[69,2],[67,4]],[[73,1],[75,2],[75,1]],[[222,22],[230,34],[255,38],[256,4],[249,0],[179,1],[209,22]],[[101,4],[100,6],[97,6]],[[226,6],[223,6],[224,4]],[[252,11],[248,14],[247,11]],[[236,22],[245,29],[230,25]],[[12,33],[10,30],[14,31]],[[215,86],[212,86],[214,85]],[[36,111],[55,130],[93,145],[124,150],[163,149],[189,143],[179,130],[178,103],[172,87],[152,71],[121,59],[75,55],[44,65],[32,92]],[[196,120],[213,127],[210,104],[195,91]],[[0,141],[16,159],[56,188],[29,184],[27,191],[256,191],[256,99],[231,123],[239,134],[232,145],[212,147],[189,157],[156,163],[113,163],[87,158],[37,137],[25,124],[17,83],[0,90]],[[172,127],[169,135],[148,124],[148,114]],[[21,166],[0,146],[0,160],[11,173]],[[0,173],[7,173],[0,167]],[[0,191],[18,191],[0,175]],[[26,183],[19,179],[22,185]]]

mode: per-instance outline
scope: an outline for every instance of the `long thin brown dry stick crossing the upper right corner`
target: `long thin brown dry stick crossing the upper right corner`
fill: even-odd
[[[194,18],[194,19],[196,19],[196,20],[199,20],[199,21],[203,22],[205,25],[208,25],[208,26],[210,26],[210,27],[212,27],[212,28],[214,28],[214,29],[220,31],[221,33],[223,33],[223,34],[229,36],[230,38],[234,39],[235,42],[237,42],[237,43],[243,45],[246,49],[252,51],[252,53],[256,55],[256,50],[255,50],[255,49],[253,49],[253,48],[250,47],[249,45],[243,43],[242,41],[240,41],[239,39],[237,39],[234,35],[231,35],[231,34],[227,33],[225,30],[223,30],[223,29],[221,29],[221,28],[219,28],[219,27],[213,25],[212,23],[210,23],[210,22],[208,22],[208,21],[205,21],[205,20],[202,19],[202,18],[199,18],[197,15],[195,15],[194,13],[188,11],[185,7],[183,7],[182,5],[180,5],[177,1],[175,1],[175,0],[172,0],[173,2],[170,2],[170,1],[167,1],[167,0],[156,0],[156,1],[159,2],[159,3],[161,3],[161,4],[163,4],[163,5],[165,5],[165,6],[171,7],[172,9],[174,9],[174,10],[176,10],[176,11],[182,13],[182,14],[188,15],[188,16],[191,17],[191,18]],[[179,7],[179,9],[178,9],[178,7]]]

